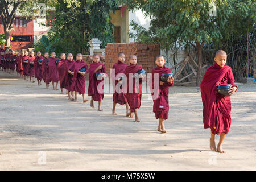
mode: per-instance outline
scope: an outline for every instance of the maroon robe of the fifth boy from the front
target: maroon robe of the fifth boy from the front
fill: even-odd
[[[104,98],[104,83],[102,82],[104,81],[104,78],[102,78],[102,80],[97,80],[95,77],[96,73],[94,73],[95,69],[98,68],[98,66],[100,65],[102,65],[102,69],[98,70],[97,72],[108,74],[106,72],[105,65],[100,62],[98,63],[93,62],[92,64],[90,64],[90,69],[89,69],[88,96],[92,96],[94,101],[101,101]],[[98,90],[99,84],[102,84],[101,90]]]

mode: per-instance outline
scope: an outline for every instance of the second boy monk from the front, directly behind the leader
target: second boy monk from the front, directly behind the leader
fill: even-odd
[[[164,127],[164,120],[168,119],[169,115],[169,87],[174,84],[174,78],[167,78],[167,82],[161,81],[161,76],[164,73],[171,73],[169,68],[166,68],[164,63],[163,55],[156,56],[155,64],[156,68],[152,69],[152,75],[150,80],[151,94],[153,97],[153,112],[155,113],[155,118],[159,119],[158,123],[158,131],[161,133],[166,133],[166,129]],[[158,80],[155,80],[155,76]],[[156,86],[156,84],[158,84]]]

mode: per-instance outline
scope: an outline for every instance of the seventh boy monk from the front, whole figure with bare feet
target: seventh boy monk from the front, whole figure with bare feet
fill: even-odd
[[[72,71],[73,64],[75,61],[73,61],[73,55],[72,53],[68,53],[67,55],[67,61],[64,63],[64,69],[65,69],[65,89],[68,90],[68,100],[73,100],[73,75],[69,73],[69,71]]]

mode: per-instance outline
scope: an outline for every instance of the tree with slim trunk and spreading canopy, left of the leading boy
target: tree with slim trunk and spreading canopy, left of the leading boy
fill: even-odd
[[[205,43],[221,42],[224,36],[228,38],[233,31],[230,30],[229,23],[236,24],[236,22],[229,22],[229,19],[237,13],[237,7],[245,9],[246,3],[253,4],[249,0],[243,2],[238,0],[121,0],[121,2],[126,3],[132,10],[142,9],[146,16],[154,17],[151,20],[151,30],[154,30],[157,36],[164,35],[170,43],[176,40],[187,42],[196,49],[197,86],[200,86],[201,82],[202,49]],[[237,18],[244,19],[245,16],[240,14]]]

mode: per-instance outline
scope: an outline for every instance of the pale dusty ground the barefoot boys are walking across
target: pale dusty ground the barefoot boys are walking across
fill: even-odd
[[[226,154],[209,150],[199,88],[171,89],[166,134],[155,131],[148,94],[139,110],[141,123],[124,116],[125,106],[111,115],[111,94],[105,95],[101,112],[81,100],[68,101],[59,91],[0,72],[0,169],[256,169],[256,84],[242,85],[232,96]]]

